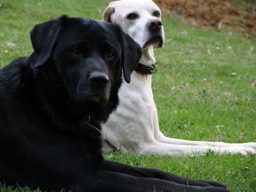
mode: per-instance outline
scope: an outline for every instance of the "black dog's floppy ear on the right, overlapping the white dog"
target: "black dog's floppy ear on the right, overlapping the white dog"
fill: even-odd
[[[123,38],[123,50],[121,54],[122,68],[124,72],[124,80],[131,81],[132,71],[138,66],[142,55],[142,49],[132,37],[121,31]]]

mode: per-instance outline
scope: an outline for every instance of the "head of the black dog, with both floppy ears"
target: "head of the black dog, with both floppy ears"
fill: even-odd
[[[45,65],[56,70],[70,100],[106,103],[140,60],[140,46],[116,24],[66,15],[31,31],[35,75]]]

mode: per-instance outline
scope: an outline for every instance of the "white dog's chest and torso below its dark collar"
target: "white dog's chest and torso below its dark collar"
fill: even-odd
[[[103,125],[103,137],[123,151],[136,150],[137,140],[147,141],[158,127],[157,107],[151,90],[151,76],[132,73],[132,82],[121,85],[118,107]],[[138,91],[139,90],[139,91]],[[134,142],[133,142],[133,139]]]

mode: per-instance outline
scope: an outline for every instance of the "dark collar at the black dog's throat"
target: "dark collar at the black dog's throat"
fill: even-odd
[[[102,135],[102,131],[96,126],[92,125],[90,120],[90,115],[80,120],[78,123],[78,132],[85,137],[100,137]]]

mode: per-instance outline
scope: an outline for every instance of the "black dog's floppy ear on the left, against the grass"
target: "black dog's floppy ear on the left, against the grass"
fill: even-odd
[[[34,48],[34,67],[42,66],[50,58],[59,32],[64,27],[67,15],[62,15],[54,20],[34,26],[30,33],[31,43]]]

